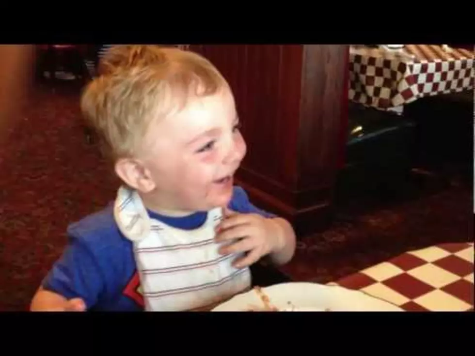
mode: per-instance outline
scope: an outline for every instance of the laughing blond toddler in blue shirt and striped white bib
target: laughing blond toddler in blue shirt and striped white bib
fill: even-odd
[[[295,233],[233,176],[246,153],[233,93],[190,51],[116,46],[81,99],[122,181],[69,244],[31,310],[209,310],[251,287],[249,266],[287,263]]]

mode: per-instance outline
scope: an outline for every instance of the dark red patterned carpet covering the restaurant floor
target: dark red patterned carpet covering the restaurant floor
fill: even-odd
[[[62,252],[67,224],[113,199],[117,181],[84,139],[75,89],[38,88],[0,147],[0,171],[0,310],[25,310]],[[325,283],[408,249],[473,240],[464,185],[355,206],[356,218],[301,239],[283,271]]]

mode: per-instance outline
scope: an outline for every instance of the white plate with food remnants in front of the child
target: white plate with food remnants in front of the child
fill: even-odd
[[[270,298],[270,303],[279,310],[289,310],[289,302],[294,311],[403,311],[387,301],[372,297],[363,292],[349,290],[340,286],[322,285],[307,282],[276,284],[262,288]],[[246,311],[251,306],[263,307],[257,293],[253,290],[238,294],[222,303],[212,311]]]

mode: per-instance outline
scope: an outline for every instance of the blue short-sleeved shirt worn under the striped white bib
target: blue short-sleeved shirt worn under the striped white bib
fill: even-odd
[[[228,207],[243,214],[273,217],[256,208],[240,187],[234,187]],[[200,227],[207,214],[165,217],[148,213],[151,218],[184,230]],[[67,299],[82,298],[88,310],[143,310],[133,246],[117,227],[113,205],[71,224],[67,234],[69,243],[44,279],[43,288]]]

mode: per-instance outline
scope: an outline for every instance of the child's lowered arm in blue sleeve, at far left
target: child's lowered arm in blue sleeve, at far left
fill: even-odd
[[[104,289],[93,253],[74,239],[33,296],[32,311],[82,311],[91,308]]]

